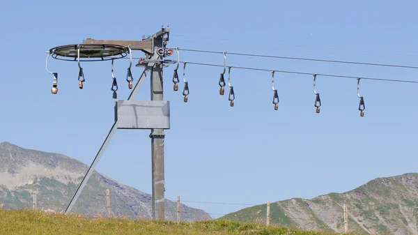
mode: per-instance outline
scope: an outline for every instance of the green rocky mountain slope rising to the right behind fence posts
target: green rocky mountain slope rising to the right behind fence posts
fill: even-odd
[[[378,178],[344,193],[314,199],[294,198],[270,204],[270,225],[293,229],[344,232],[343,204],[348,232],[356,234],[418,234],[418,174]],[[266,220],[266,204],[223,218],[247,222]]]

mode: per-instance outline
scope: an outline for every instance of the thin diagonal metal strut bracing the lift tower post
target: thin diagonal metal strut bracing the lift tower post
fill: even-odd
[[[157,59],[157,57],[158,57],[157,54],[155,54],[152,59]],[[135,97],[135,95],[138,93],[139,87],[141,86],[141,84],[144,83],[146,73],[149,70],[151,70],[151,68],[153,68],[154,66],[155,66],[154,63],[149,63],[148,66],[146,66],[146,68],[144,68],[144,71],[142,72],[141,77],[139,77],[139,80],[138,80],[137,84],[134,86],[134,89],[130,93],[130,96],[127,98],[127,100],[132,100]],[[104,142],[103,142],[102,146],[100,146],[100,149],[99,149],[98,153],[96,154],[96,156],[95,156],[93,162],[91,163],[90,167],[88,168],[88,170],[86,172],[86,175],[82,179],[82,182],[79,184],[79,187],[75,191],[75,194],[72,196],[72,199],[70,200],[70,204],[68,204],[67,209],[65,209],[64,214],[68,214],[68,213],[71,212],[72,207],[77,202],[77,199],[79,198],[80,194],[82,193],[82,190],[83,190],[84,186],[86,186],[86,183],[87,183],[88,179],[90,179],[91,174],[93,174],[94,169],[95,169],[95,165],[98,164],[100,158],[102,157],[102,155],[104,153],[104,149],[106,149],[107,144],[109,144],[111,137],[113,137],[113,135],[114,135],[114,133],[116,132],[117,129],[118,129],[118,123],[115,122],[113,124],[113,126],[111,126],[111,128],[109,130],[109,133],[107,134],[106,139],[104,139]]]

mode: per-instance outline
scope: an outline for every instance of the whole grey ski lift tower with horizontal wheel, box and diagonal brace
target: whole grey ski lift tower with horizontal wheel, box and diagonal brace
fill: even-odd
[[[58,73],[48,70],[49,56],[52,56],[54,59],[76,61],[78,63],[79,89],[83,89],[83,84],[86,81],[81,61],[111,60],[113,79],[111,91],[113,91],[114,99],[117,98],[118,84],[116,77],[113,75],[113,61],[114,59],[122,59],[128,54],[130,56],[126,81],[128,89],[133,88],[132,92],[127,100],[117,100],[115,102],[115,122],[111,126],[109,134],[104,139],[102,146],[100,146],[98,153],[64,213],[70,213],[75,202],[77,202],[114,132],[117,129],[148,129],[151,131],[153,220],[164,220],[164,130],[170,128],[170,109],[169,101],[163,100],[162,68],[169,66],[170,63],[176,63],[176,61],[164,59],[173,54],[173,50],[167,48],[169,32],[169,26],[162,26],[162,29],[153,36],[143,37],[142,40],[95,40],[87,38],[82,44],[54,47],[47,52],[46,69],[48,73],[54,76],[51,89],[53,94],[58,93]],[[141,58],[136,65],[137,67],[144,67],[144,71],[134,86],[132,84],[134,79],[131,73],[132,50],[139,50],[145,53],[145,57]],[[133,100],[148,72],[150,72],[151,79],[150,100]]]

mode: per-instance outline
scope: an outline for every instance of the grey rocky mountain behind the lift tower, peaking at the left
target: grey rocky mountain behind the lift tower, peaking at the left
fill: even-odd
[[[68,156],[45,153],[3,142],[0,144],[0,207],[64,211],[88,169]],[[107,216],[106,190],[110,191],[111,215],[151,218],[151,196],[94,172],[72,212],[86,216]],[[177,202],[166,200],[166,220],[176,220]],[[207,220],[200,209],[180,205],[182,221]]]

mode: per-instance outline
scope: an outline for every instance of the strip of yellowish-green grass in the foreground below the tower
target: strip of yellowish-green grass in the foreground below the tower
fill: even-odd
[[[320,232],[295,231],[279,227],[208,220],[176,222],[132,220],[129,218],[85,218],[81,215],[61,215],[29,210],[0,209],[0,234],[239,234],[239,235],[323,235]]]

